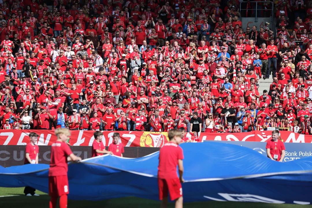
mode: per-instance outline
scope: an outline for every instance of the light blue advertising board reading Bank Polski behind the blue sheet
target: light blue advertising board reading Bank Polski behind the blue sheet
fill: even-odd
[[[213,141],[205,140],[204,142],[213,142]],[[239,146],[251,148],[267,157],[266,142],[239,142],[239,141],[215,141],[215,142],[236,144]],[[284,145],[286,150],[283,162],[312,156],[312,143],[284,143]]]

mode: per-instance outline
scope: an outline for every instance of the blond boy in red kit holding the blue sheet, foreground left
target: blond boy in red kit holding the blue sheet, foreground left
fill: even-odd
[[[66,144],[66,141],[71,135],[68,129],[58,128],[55,130],[55,135],[57,136],[57,140],[51,146],[49,169],[49,196],[51,196],[49,207],[55,208],[57,198],[60,197],[60,208],[66,208],[67,194],[69,194],[67,162],[81,161],[81,158],[74,155]]]

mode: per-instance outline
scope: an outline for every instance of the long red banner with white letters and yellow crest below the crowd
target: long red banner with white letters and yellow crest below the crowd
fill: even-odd
[[[29,143],[28,134],[35,132],[39,135],[38,145],[51,145],[56,141],[56,136],[52,130],[1,130],[0,145],[26,145]],[[94,131],[71,131],[71,146],[92,146],[94,141]],[[143,132],[143,131],[119,131],[120,142],[124,147],[156,147],[161,148],[168,143],[166,132]],[[266,142],[271,138],[271,131],[252,131],[246,133],[199,133],[199,141],[249,141]],[[113,142],[114,131],[103,131],[103,144],[109,146]],[[312,143],[312,135],[293,133],[291,131],[280,131],[280,136],[286,143]],[[187,134],[187,138],[194,140],[192,133]]]

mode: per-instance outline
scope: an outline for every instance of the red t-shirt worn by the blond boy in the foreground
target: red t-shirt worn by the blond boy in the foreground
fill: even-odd
[[[56,141],[52,144],[49,176],[67,176],[67,157],[72,153],[65,142]]]

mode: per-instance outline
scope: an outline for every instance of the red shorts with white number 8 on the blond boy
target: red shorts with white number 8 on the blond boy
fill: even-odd
[[[49,196],[59,197],[69,194],[67,176],[49,176]]]

